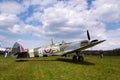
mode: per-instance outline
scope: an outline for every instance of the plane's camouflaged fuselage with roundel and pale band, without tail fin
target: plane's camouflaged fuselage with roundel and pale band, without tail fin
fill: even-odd
[[[76,41],[70,43],[63,43],[59,45],[49,45],[44,47],[34,48],[28,51],[30,57],[36,56],[50,56],[63,55],[64,53],[73,51],[88,44],[88,40]]]

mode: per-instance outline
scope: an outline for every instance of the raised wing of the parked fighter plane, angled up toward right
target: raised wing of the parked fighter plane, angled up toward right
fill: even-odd
[[[90,48],[90,47],[93,47],[93,46],[95,46],[95,45],[97,45],[97,44],[100,44],[100,43],[102,43],[102,42],[104,42],[104,41],[106,41],[106,40],[90,42],[89,44],[87,44],[87,45],[85,45],[85,46],[83,46],[83,47],[79,47],[79,48],[74,49],[74,50],[65,51],[65,52],[63,53],[63,55],[71,54],[71,53],[76,52],[76,51],[85,50],[85,49],[87,49],[87,48]]]

